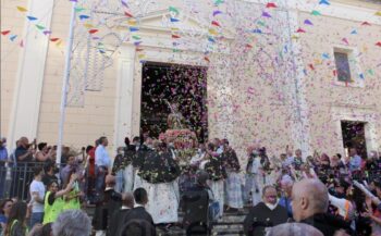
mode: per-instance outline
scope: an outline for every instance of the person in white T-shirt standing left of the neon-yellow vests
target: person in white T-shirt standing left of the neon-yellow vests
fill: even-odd
[[[45,197],[45,185],[42,183],[44,171],[42,167],[37,166],[34,170],[34,176],[30,184],[30,204],[32,204],[32,215],[30,215],[30,228],[35,224],[42,223],[44,219],[44,197]]]

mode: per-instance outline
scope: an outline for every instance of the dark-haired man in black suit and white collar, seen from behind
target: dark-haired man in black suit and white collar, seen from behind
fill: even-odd
[[[148,202],[148,195],[146,189],[136,188],[134,191],[135,207],[130,211],[125,218],[125,223],[133,220],[144,220],[147,224],[153,226],[152,216],[146,211],[145,206]]]

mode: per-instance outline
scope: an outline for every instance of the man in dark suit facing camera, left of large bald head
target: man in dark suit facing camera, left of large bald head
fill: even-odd
[[[263,236],[268,227],[283,224],[287,221],[287,210],[278,204],[278,194],[273,186],[265,186],[263,201],[250,209],[244,222],[245,235]]]

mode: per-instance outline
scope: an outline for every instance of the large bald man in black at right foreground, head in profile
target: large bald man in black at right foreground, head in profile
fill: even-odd
[[[327,214],[328,189],[319,179],[307,178],[293,186],[292,208],[296,222],[318,228],[324,236],[333,236],[341,228],[351,232],[351,225],[334,215]]]

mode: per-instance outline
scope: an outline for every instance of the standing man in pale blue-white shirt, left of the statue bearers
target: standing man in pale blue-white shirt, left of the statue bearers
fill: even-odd
[[[107,137],[99,138],[99,146],[95,151],[95,164],[96,164],[96,192],[103,192],[105,177],[110,167],[110,156],[106,150],[109,145]]]

